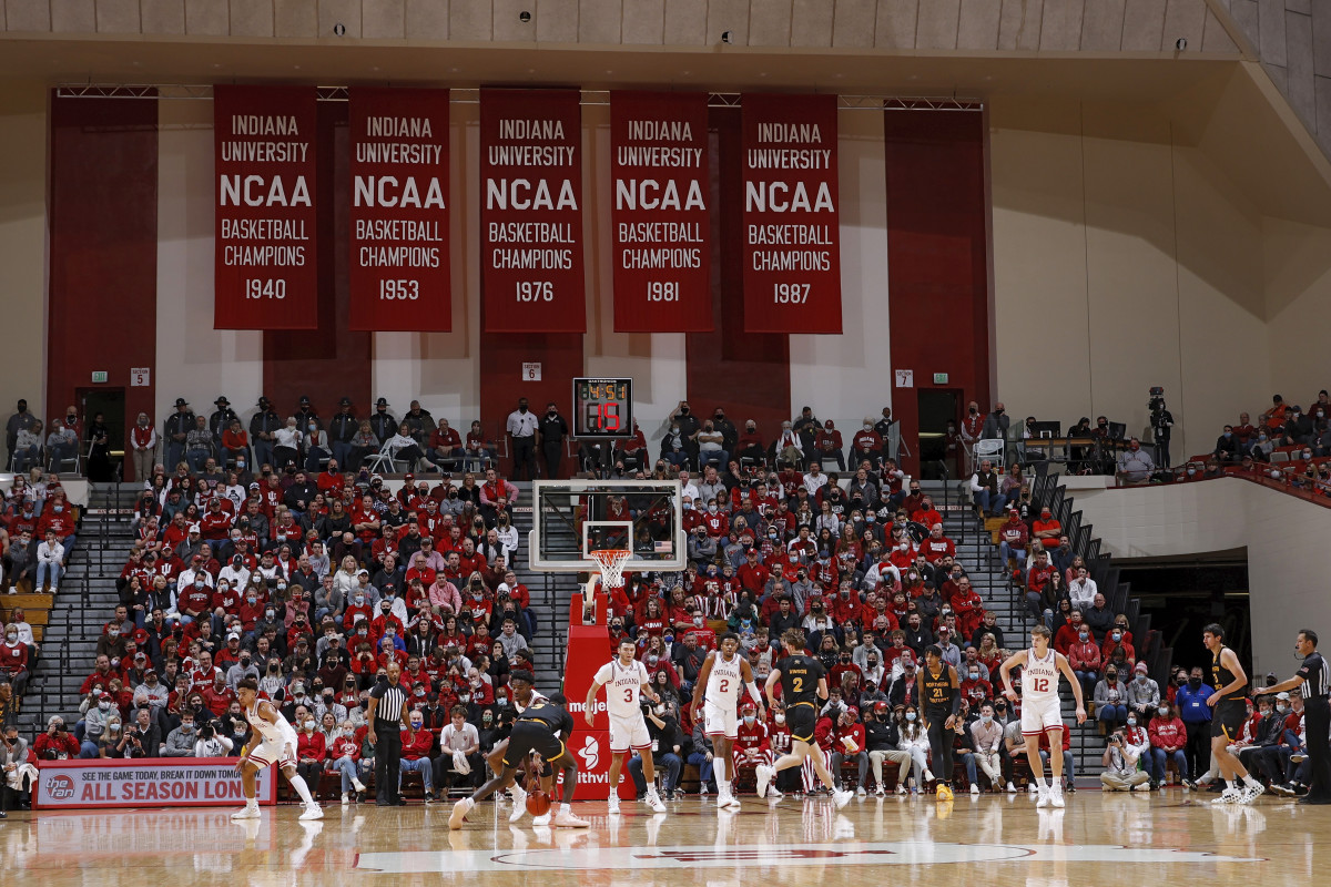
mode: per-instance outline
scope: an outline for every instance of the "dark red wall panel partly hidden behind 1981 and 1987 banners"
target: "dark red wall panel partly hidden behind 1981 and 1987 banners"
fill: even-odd
[[[685,336],[688,400],[699,416],[721,406],[743,430],[775,440],[791,418],[791,336],[744,331],[744,185],[740,110],[711,109],[712,332]],[[655,444],[654,444],[655,445]]]

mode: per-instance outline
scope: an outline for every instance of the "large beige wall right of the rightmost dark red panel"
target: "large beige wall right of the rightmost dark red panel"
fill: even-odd
[[[1270,396],[1267,219],[1149,108],[996,98],[990,121],[1009,414],[1141,434],[1159,384],[1175,459],[1210,449]]]

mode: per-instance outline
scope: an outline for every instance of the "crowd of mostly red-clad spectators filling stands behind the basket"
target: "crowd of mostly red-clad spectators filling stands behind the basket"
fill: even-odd
[[[272,414],[265,400],[256,419]],[[224,415],[213,419],[234,432],[225,399],[217,406]],[[186,412],[178,402],[168,439],[180,434],[173,428],[198,430],[201,418]],[[395,426],[419,445],[413,435],[446,427],[415,403],[413,414],[417,424],[389,416],[382,430]],[[986,416],[980,434],[985,426],[1005,434],[1001,419]],[[295,422],[305,435],[323,432],[313,414]],[[882,422],[890,424],[886,410]],[[700,791],[715,790],[712,746],[688,701],[717,634],[740,637],[761,681],[776,657],[771,638],[789,628],[805,632],[829,673],[815,741],[839,779],[864,793],[872,773],[872,789],[882,793],[884,761],[896,765],[896,791],[934,779],[917,669],[936,644],[962,681],[958,769],[972,791],[1016,791],[1020,703],[996,696],[990,676],[1024,638],[1006,638],[986,610],[932,499],[886,455],[889,435],[865,420],[864,445],[849,452],[853,473],[841,477],[823,471],[827,460],[840,472],[847,453],[812,410],[784,423],[769,444],[751,427],[747,444],[743,436],[731,442],[725,426],[721,411],[699,422],[680,403],[655,461],[634,440],[612,453],[584,453],[608,460],[586,461],[594,471],[683,483],[687,568],[628,574],[610,596],[611,649],[634,638],[662,697],[648,723],[663,794],[680,791],[685,765],[697,766]],[[249,729],[234,689],[254,677],[297,727],[306,781],[329,775],[329,791],[351,799],[373,771],[367,690],[397,662],[423,737],[405,745],[403,771],[419,774],[427,799],[483,778],[482,755],[514,717],[507,674],[538,669],[530,593],[510,569],[519,551],[510,516],[518,491],[498,469],[492,442],[483,442],[475,463],[483,475],[465,471],[454,484],[447,459],[470,459],[473,449],[426,440],[413,467],[429,460],[439,476],[409,472],[394,491],[365,467],[339,468],[361,464],[374,445],[367,439],[362,451],[333,435],[284,447],[278,430],[268,449],[264,439],[233,435],[230,443],[244,447],[193,459],[185,431],[176,449],[168,444],[174,467],[149,467],[134,508],[136,541],[117,581],[120,606],[98,637],[77,722],[67,729],[64,718],[51,718],[35,757],[236,755]],[[626,455],[636,464],[624,464]],[[19,501],[36,496],[37,480],[35,471]],[[1006,515],[1000,557],[1026,585],[1032,618],[1054,630],[1105,731],[1123,737],[1106,751],[1106,767],[1122,775],[1125,762],[1141,761],[1147,785],[1161,785],[1166,762],[1178,766],[1182,757],[1189,778],[1199,777],[1205,749],[1190,743],[1189,685],[1162,696],[1138,662],[1126,617],[1107,608],[1057,519],[1033,501],[1021,467],[996,472],[981,463],[972,489],[984,513]],[[47,497],[57,497],[49,481]],[[37,507],[29,517],[40,513]],[[744,774],[788,749],[789,731],[781,706],[765,722],[741,715],[736,765]],[[1145,757],[1134,751],[1142,731],[1150,737]],[[1073,790],[1069,734],[1059,754]],[[628,770],[642,793],[640,761]],[[787,771],[781,781],[779,787],[815,790],[812,773]]]

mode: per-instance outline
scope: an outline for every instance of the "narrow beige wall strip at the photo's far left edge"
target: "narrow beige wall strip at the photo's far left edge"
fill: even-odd
[[[0,86],[0,418],[19,398],[43,416],[47,293],[47,89]]]

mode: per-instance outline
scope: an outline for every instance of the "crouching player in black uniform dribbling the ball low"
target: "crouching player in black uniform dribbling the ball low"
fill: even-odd
[[[522,681],[528,686],[535,684],[531,672],[518,670],[510,676],[510,681]],[[516,689],[514,692],[516,694]],[[508,741],[495,746],[490,753],[490,769],[498,775],[491,777],[470,798],[463,798],[453,806],[453,815],[449,817],[449,828],[457,831],[462,828],[463,821],[478,801],[484,801],[495,791],[503,791],[516,777],[518,767],[535,751],[552,767],[563,770],[564,774],[564,801],[555,813],[554,824],[566,828],[587,828],[591,823],[579,819],[570,809],[574,799],[574,790],[578,787],[578,761],[568,753],[560,734],[567,738],[572,735],[574,719],[568,710],[563,707],[563,697],[530,702],[526,710],[514,721],[512,733]]]

